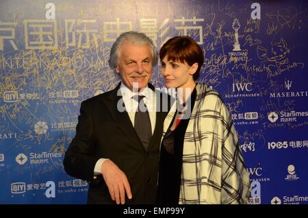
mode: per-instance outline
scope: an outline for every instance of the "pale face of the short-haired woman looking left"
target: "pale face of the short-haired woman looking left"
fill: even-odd
[[[194,79],[192,75],[196,72],[198,64],[189,66],[187,62],[168,60],[165,56],[162,60],[161,74],[165,79],[167,88],[192,88]]]

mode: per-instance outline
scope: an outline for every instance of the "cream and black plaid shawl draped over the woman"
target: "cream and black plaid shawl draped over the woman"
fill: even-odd
[[[246,204],[251,187],[233,121],[220,95],[196,84],[183,145],[179,204]],[[166,134],[176,102],[164,121]]]

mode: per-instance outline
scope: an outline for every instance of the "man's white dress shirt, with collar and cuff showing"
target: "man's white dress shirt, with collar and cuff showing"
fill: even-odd
[[[155,124],[156,124],[156,97],[155,92],[146,86],[146,88],[143,88],[140,93],[133,93],[123,82],[120,85],[120,94],[123,97],[123,101],[125,104],[125,110],[129,114],[129,119],[131,120],[131,124],[134,125],[135,121],[135,114],[136,110],[138,108],[138,101],[133,99],[133,96],[135,95],[142,95],[144,96],[144,104],[146,105],[146,108],[149,111],[150,121],[151,121],[151,128],[152,128],[152,135],[155,130]],[[100,158],[97,160],[97,163],[94,167],[94,179],[97,178],[95,175],[101,174],[101,165],[105,160],[108,158]]]

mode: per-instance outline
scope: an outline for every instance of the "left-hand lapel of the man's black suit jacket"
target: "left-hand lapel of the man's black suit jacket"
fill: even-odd
[[[118,86],[116,86],[116,88],[114,88],[114,90],[110,92],[110,95],[107,98],[103,99],[103,103],[105,104],[107,110],[110,112],[115,123],[127,136],[127,138],[129,138],[131,143],[138,147],[143,147],[135,129],[133,128],[131,119],[129,119],[129,114],[126,111],[120,112],[117,108],[118,104],[122,104],[123,108],[125,107],[122,96],[120,95],[119,88],[120,83],[118,84]]]

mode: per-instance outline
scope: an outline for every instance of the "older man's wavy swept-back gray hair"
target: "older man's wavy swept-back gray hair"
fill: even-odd
[[[120,36],[118,36],[118,38],[116,39],[116,42],[114,42],[114,45],[112,45],[108,62],[111,69],[116,69],[116,66],[118,66],[118,60],[120,60],[120,47],[125,42],[129,42],[133,45],[148,45],[150,47],[152,55],[152,66],[157,65],[157,51],[151,38],[149,38],[145,34],[131,31],[120,34]]]

